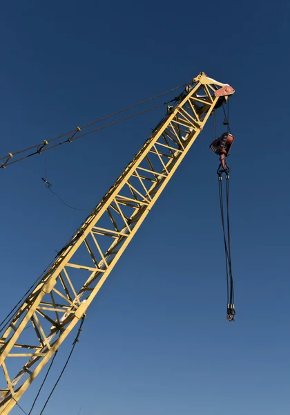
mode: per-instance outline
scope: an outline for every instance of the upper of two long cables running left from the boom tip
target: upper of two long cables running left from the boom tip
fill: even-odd
[[[90,127],[90,125],[93,125],[93,124],[97,124],[98,122],[101,122],[101,121],[104,121],[104,120],[108,120],[108,118],[112,118],[112,117],[115,117],[115,116],[117,116],[117,115],[119,115],[120,113],[124,113],[124,112],[126,112],[126,111],[129,111],[130,109],[133,109],[133,108],[135,108],[135,107],[139,107],[139,105],[142,105],[142,104],[146,104],[146,102],[149,102],[149,101],[152,101],[152,100],[155,100],[155,99],[157,99],[157,98],[160,98],[160,97],[162,97],[162,95],[166,95],[167,93],[170,93],[170,92],[172,92],[172,91],[175,91],[176,89],[180,89],[180,88],[182,88],[183,86],[186,86],[187,84],[190,84],[192,81],[190,81],[190,82],[186,82],[186,84],[182,84],[182,85],[180,85],[180,86],[175,86],[174,88],[172,88],[172,89],[168,89],[168,91],[164,91],[164,92],[162,92],[162,93],[160,93],[160,94],[158,94],[158,95],[155,95],[155,96],[153,96],[153,97],[151,97],[151,98],[148,98],[147,100],[143,100],[143,101],[141,101],[141,102],[137,102],[137,104],[133,104],[133,105],[131,105],[130,107],[126,107],[126,108],[124,108],[124,109],[121,109],[121,110],[119,110],[119,111],[116,111],[115,113],[111,113],[111,114],[109,114],[108,116],[105,116],[105,117],[102,117],[102,118],[99,118],[98,120],[95,120],[95,121],[93,121],[93,122],[89,122],[88,124],[84,124],[83,126],[81,126],[81,127],[79,127],[79,129],[85,129],[86,127]],[[137,114],[136,114],[137,115]],[[57,136],[57,137],[55,137],[55,138],[51,138],[50,140],[49,140],[49,142],[52,142],[52,141],[55,141],[55,140],[59,140],[59,138],[63,138],[63,137],[65,137],[65,136],[68,136],[68,135],[70,135],[70,134],[72,134],[72,133],[75,133],[77,130],[76,129],[73,129],[73,130],[71,130],[71,131],[68,131],[68,132],[66,132],[66,133],[63,133],[63,134],[61,134],[60,136]],[[92,131],[93,132],[93,131]],[[25,151],[28,151],[28,150],[31,150],[31,149],[35,149],[35,148],[37,148],[37,147],[41,147],[43,145],[43,142],[40,142],[39,144],[35,144],[35,145],[32,145],[32,146],[30,146],[30,147],[27,147],[26,149],[22,149],[22,150],[19,150],[19,151],[15,151],[14,153],[12,153],[12,156],[15,156],[15,155],[17,155],[17,154],[21,154],[21,153],[23,153],[23,152],[25,152]],[[9,159],[11,156],[8,154],[8,156],[3,156],[3,157],[1,157],[0,158],[0,160],[4,160],[4,159]],[[23,158],[19,158],[18,159],[19,161],[20,160],[23,160]],[[7,165],[10,165],[10,164],[12,164],[12,163],[5,163],[5,167],[7,166]]]

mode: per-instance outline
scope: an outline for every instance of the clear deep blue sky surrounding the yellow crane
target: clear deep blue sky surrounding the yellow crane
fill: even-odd
[[[200,71],[236,91],[229,160],[236,322],[225,316],[209,125],[90,306],[45,414],[82,407],[81,415],[289,415],[288,25],[287,1],[1,2],[1,156]],[[93,207],[161,116],[48,151],[54,190]],[[42,156],[0,171],[0,317],[86,217],[50,194],[43,174]],[[24,409],[41,379],[21,399]]]

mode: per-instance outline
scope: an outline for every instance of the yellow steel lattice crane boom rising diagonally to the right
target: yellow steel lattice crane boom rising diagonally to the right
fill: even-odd
[[[200,73],[175,98],[142,149],[12,315],[0,339],[1,415],[16,405],[84,316],[211,112],[231,93],[230,86]]]

